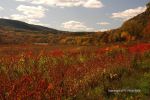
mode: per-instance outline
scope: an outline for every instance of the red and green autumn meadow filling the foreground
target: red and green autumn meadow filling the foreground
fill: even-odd
[[[149,42],[77,47],[0,45],[0,100],[148,98]]]

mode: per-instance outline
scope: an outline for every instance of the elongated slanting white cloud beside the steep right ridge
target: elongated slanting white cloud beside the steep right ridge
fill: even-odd
[[[120,18],[120,19],[130,19],[146,10],[146,7],[138,7],[134,9],[128,9],[122,12],[117,12],[112,14],[112,18]]]

